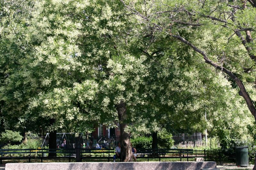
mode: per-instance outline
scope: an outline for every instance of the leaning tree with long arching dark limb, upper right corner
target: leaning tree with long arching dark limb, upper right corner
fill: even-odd
[[[124,1],[123,1],[124,2]],[[127,9],[137,16],[144,36],[170,37],[188,45],[203,56],[205,63],[223,71],[239,89],[256,120],[251,91],[255,75],[254,22],[252,1],[137,1]],[[186,36],[189,29],[194,36]],[[233,35],[236,38],[233,39]],[[244,38],[245,37],[245,38]],[[240,47],[244,48],[240,48]],[[255,161],[256,163],[256,161]],[[254,166],[255,169],[256,166]]]

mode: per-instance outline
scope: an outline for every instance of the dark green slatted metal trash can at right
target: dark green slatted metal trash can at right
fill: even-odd
[[[248,146],[236,147],[236,166],[249,166]]]

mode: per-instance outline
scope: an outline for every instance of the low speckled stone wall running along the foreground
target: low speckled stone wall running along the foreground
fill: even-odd
[[[216,162],[53,162],[10,163],[5,170],[200,170],[216,168]]]

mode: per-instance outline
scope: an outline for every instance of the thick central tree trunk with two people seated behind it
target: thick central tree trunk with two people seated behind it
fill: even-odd
[[[121,161],[132,162],[132,147],[129,134],[124,131],[127,126],[125,103],[121,100],[116,107],[120,124]]]

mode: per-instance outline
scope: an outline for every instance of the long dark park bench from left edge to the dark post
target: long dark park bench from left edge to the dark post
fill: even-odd
[[[47,154],[56,153],[57,156],[49,157]],[[65,158],[70,159],[75,153],[74,149],[0,149],[0,164],[2,164],[3,159],[55,159],[55,158]]]

